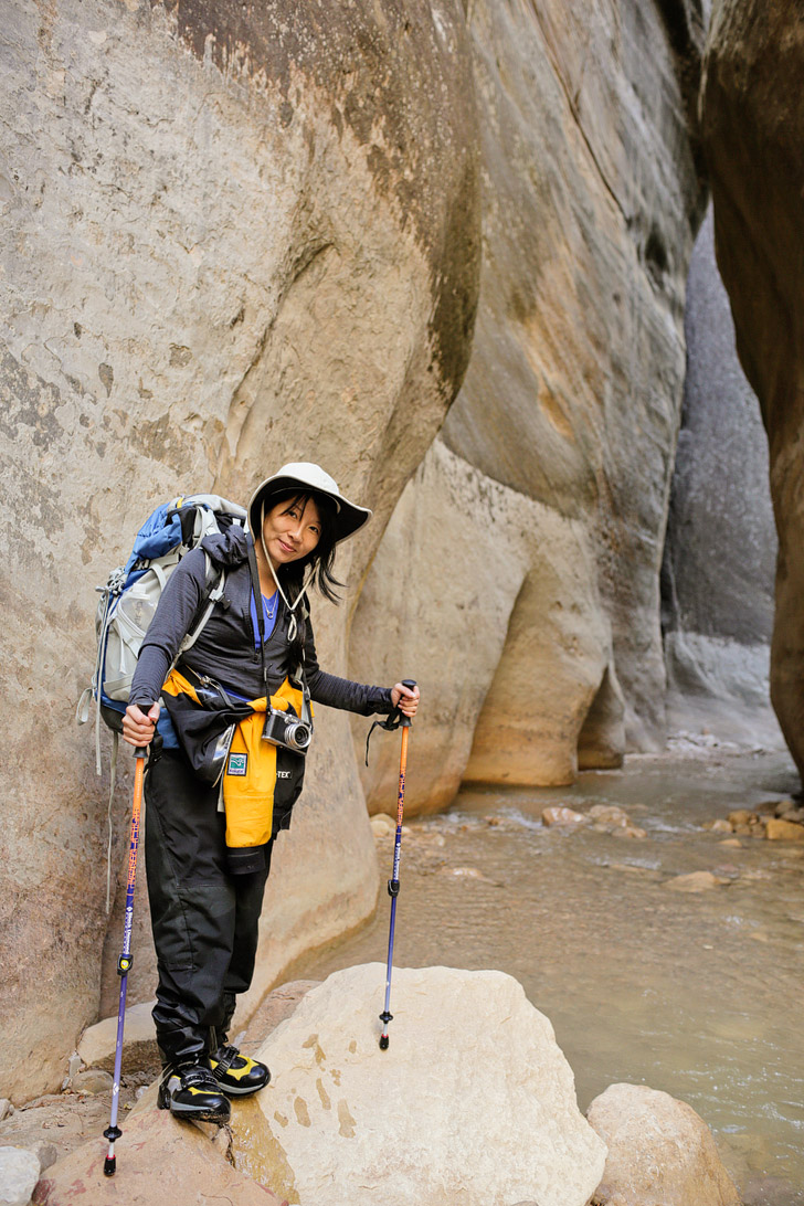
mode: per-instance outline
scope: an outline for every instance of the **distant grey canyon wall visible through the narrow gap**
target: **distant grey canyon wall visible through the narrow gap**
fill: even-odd
[[[734,349],[711,212],[689,264],[685,332],[662,573],[669,721],[779,744],[768,683],[776,557],[768,443]]]

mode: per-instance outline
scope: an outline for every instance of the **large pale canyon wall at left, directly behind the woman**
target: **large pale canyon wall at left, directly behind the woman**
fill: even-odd
[[[19,0],[0,68],[0,1093],[19,1101],[58,1087],[98,1011],[105,800],[72,727],[95,585],[157,502],[242,499],[284,459],[376,509],[339,562],[358,585],[460,384],[480,227],[458,0]],[[316,617],[344,669],[348,608]],[[348,725],[317,727],[254,996],[374,906]],[[115,866],[129,807],[123,780]]]

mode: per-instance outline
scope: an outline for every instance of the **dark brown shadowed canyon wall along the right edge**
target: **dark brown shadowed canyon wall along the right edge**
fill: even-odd
[[[768,429],[779,532],[774,708],[804,772],[804,13],[791,0],[718,0],[702,89],[717,262],[736,347]]]

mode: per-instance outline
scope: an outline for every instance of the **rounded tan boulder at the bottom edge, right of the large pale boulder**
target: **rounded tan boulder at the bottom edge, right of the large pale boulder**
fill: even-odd
[[[740,1206],[709,1128],[685,1101],[612,1084],[587,1118],[609,1148],[593,1206]]]

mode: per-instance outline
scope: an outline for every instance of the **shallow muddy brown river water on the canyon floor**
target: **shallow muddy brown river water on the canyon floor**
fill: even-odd
[[[804,847],[702,827],[797,785],[781,754],[710,753],[629,760],[571,789],[466,790],[405,835],[394,962],[509,972],[553,1023],[582,1110],[618,1081],[664,1089],[712,1128],[746,1206],[800,1206]],[[547,804],[594,803],[647,836],[541,825]],[[392,838],[383,883],[391,859]],[[693,871],[722,882],[668,886]],[[294,974],[385,961],[387,932],[383,894],[374,921]]]

